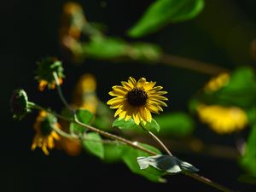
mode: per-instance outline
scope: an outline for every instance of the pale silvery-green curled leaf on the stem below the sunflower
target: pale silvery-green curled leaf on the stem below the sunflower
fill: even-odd
[[[149,157],[138,157],[137,162],[142,170],[153,166],[162,172],[175,174],[178,172],[198,172],[199,170],[188,162],[178,160],[177,157],[170,155],[154,155]]]

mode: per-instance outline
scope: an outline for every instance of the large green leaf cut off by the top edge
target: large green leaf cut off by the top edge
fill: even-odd
[[[143,17],[129,30],[133,38],[156,32],[169,23],[191,20],[204,8],[203,0],[158,0],[152,3]]]

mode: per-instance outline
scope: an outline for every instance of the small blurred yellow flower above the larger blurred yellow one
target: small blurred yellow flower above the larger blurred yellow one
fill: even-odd
[[[214,92],[221,89],[226,84],[229,83],[230,74],[229,73],[220,73],[217,77],[212,78],[205,86],[205,91]]]

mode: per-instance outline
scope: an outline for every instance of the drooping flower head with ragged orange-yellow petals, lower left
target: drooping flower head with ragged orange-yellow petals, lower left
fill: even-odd
[[[38,118],[34,124],[36,135],[33,138],[32,150],[35,148],[42,148],[44,154],[49,154],[49,149],[55,147],[55,140],[60,140],[61,137],[52,130],[52,127],[60,129],[61,125],[58,124],[55,116],[42,111],[39,113]]]

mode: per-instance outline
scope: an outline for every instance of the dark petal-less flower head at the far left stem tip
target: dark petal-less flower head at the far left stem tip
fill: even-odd
[[[25,90],[15,90],[10,99],[11,112],[15,119],[22,119],[30,112],[28,99]]]

